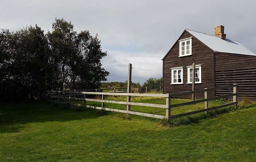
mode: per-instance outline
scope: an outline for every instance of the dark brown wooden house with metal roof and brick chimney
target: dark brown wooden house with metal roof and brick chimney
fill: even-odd
[[[237,83],[238,100],[256,100],[256,54],[227,39],[222,25],[214,27],[214,35],[185,29],[162,60],[163,93],[191,91],[195,63],[195,90]],[[230,91],[218,90],[208,95],[220,96]]]

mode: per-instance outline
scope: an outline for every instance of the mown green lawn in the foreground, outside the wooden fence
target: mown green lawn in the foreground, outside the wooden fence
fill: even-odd
[[[255,161],[255,107],[222,108],[168,127],[76,106],[0,103],[0,161]]]

